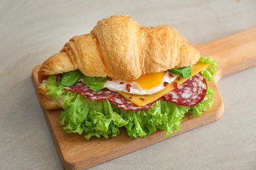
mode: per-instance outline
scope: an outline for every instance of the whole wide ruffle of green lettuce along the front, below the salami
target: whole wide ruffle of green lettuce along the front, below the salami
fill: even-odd
[[[181,128],[181,119],[189,107],[178,106],[169,101],[157,101],[146,111],[125,111],[110,101],[90,101],[80,94],[68,92],[60,113],[60,124],[69,133],[85,132],[85,138],[92,136],[116,137],[119,128],[127,128],[130,137],[146,137],[157,129],[166,130],[166,137]]]

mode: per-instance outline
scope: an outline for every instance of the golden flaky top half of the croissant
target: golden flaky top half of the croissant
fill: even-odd
[[[199,52],[169,26],[148,28],[129,16],[111,16],[99,21],[91,33],[71,38],[42,64],[38,79],[80,69],[90,77],[133,80],[196,64],[199,58]]]

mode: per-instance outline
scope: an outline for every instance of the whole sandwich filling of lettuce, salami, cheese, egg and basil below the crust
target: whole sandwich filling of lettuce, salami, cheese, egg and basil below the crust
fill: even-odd
[[[166,72],[146,74],[135,81],[112,77],[86,77],[79,70],[51,75],[48,95],[63,98],[60,124],[67,132],[85,132],[85,137],[116,136],[127,128],[131,137],[146,137],[156,129],[166,137],[179,130],[183,115],[201,115],[213,103],[216,61],[201,58],[198,64]],[[82,79],[81,79],[82,77]]]

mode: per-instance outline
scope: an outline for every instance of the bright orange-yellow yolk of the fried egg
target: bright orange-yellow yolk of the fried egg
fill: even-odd
[[[139,79],[134,81],[137,82],[143,89],[151,89],[161,84],[164,74],[164,72],[144,74],[143,76],[139,77]]]

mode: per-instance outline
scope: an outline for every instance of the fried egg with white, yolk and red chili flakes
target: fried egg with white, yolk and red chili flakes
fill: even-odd
[[[171,84],[178,74],[158,72],[144,74],[134,81],[121,81],[109,77],[104,87],[112,91],[122,91],[129,94],[155,94]]]

